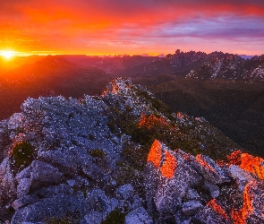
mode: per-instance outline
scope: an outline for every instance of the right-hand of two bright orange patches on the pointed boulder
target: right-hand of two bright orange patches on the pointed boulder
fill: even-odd
[[[176,167],[177,167],[177,162],[174,155],[172,155],[168,151],[165,151],[165,162],[160,168],[160,172],[162,176],[168,178],[174,177]]]

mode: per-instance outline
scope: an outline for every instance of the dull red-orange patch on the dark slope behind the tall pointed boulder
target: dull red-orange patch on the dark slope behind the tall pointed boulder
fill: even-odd
[[[169,124],[166,122],[166,119],[162,116],[158,117],[155,115],[149,115],[145,116],[144,114],[141,115],[141,120],[139,122],[139,128],[141,127],[147,127],[150,129],[153,126],[169,126]]]

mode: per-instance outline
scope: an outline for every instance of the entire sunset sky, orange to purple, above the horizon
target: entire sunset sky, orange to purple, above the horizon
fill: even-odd
[[[263,0],[10,0],[0,50],[27,54],[264,54]]]

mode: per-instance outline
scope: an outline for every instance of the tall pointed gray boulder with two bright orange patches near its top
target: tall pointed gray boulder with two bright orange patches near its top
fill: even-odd
[[[148,210],[174,214],[181,208],[187,189],[199,185],[200,175],[183,151],[170,151],[157,140],[149,151],[145,170],[145,189]],[[154,203],[153,203],[154,202]]]

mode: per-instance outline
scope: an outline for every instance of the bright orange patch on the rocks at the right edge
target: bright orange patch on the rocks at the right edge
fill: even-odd
[[[264,179],[264,159],[260,157],[253,157],[248,153],[242,153],[240,168],[251,172],[260,179]]]

